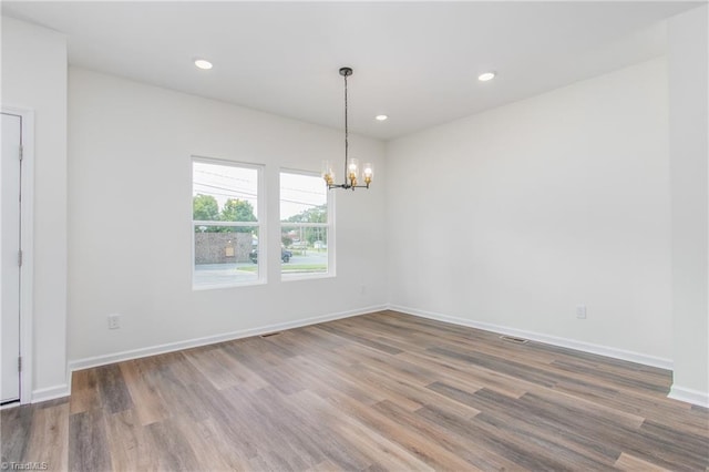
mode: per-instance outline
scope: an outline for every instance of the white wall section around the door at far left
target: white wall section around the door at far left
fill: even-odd
[[[32,397],[66,392],[66,40],[2,18],[2,104],[34,111]]]

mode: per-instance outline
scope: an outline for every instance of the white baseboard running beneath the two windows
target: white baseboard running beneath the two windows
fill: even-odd
[[[387,306],[373,306],[360,308],[356,310],[341,311],[338,314],[322,315],[311,318],[304,318],[295,321],[279,322],[275,325],[260,326],[257,328],[243,329],[239,331],[225,332],[222,335],[205,336],[203,338],[186,339],[184,341],[168,342],[165,345],[151,346],[147,348],[132,349],[127,351],[114,352],[110,355],[95,356],[84,359],[75,359],[69,362],[69,370],[89,369],[91,367],[105,366],[124,360],[138,359],[142,357],[155,356],[165,352],[173,352],[183,349],[196,348],[199,346],[214,345],[216,342],[230,341],[234,339],[248,338],[251,336],[265,335],[274,331],[282,331],[286,329],[300,328],[304,326],[317,325],[319,322],[332,321],[336,319],[349,318],[352,316],[370,314],[387,309]]]

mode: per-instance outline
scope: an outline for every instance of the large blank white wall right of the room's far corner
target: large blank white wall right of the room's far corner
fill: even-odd
[[[669,366],[666,74],[656,59],[389,143],[390,301]]]

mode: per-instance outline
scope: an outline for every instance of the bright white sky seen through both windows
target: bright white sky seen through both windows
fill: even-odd
[[[219,209],[229,198],[248,201],[258,216],[258,172],[255,168],[195,161],[193,196],[212,195]],[[319,176],[280,174],[280,219],[327,203],[327,187]]]

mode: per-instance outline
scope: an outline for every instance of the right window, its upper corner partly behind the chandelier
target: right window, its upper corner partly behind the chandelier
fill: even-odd
[[[322,177],[280,173],[280,240],[284,278],[332,274],[333,230]]]

